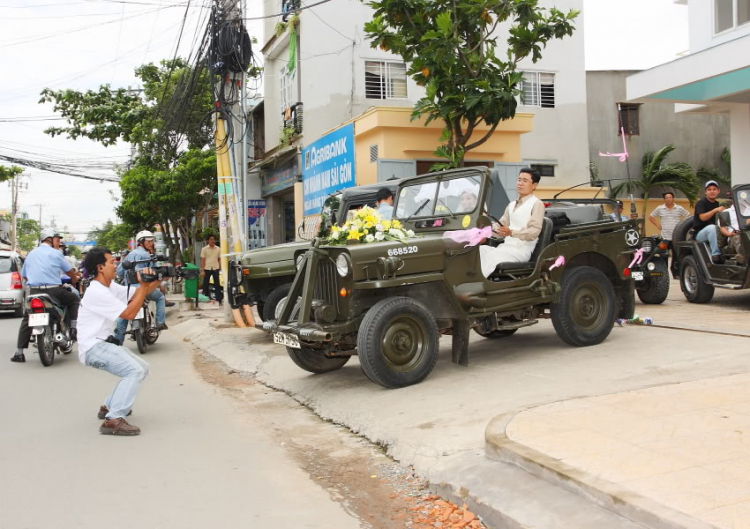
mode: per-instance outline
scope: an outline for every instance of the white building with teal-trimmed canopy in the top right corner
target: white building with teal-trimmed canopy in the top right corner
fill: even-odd
[[[727,114],[732,184],[750,183],[750,1],[675,3],[689,10],[689,55],[630,76],[627,97],[672,103],[676,112]]]

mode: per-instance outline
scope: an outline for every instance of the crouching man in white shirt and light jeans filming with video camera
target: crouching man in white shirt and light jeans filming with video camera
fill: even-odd
[[[78,357],[81,363],[107,371],[120,377],[112,394],[99,408],[98,417],[104,419],[99,432],[110,435],[138,435],[140,428],[129,424],[130,415],[141,382],[148,375],[148,364],[115,343],[112,327],[118,318],[132,320],[143,301],[159,288],[161,281],[140,281],[141,274],[148,276],[151,270],[138,273],[138,288],[130,289],[114,282],[117,267],[112,252],[106,248],[94,248],[86,256],[84,266],[94,276],[86,289],[78,314]]]

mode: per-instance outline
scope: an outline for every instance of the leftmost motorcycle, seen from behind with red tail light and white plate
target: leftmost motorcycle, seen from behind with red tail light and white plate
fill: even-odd
[[[45,367],[55,362],[55,354],[73,352],[68,310],[48,294],[32,294],[26,300],[31,341]]]

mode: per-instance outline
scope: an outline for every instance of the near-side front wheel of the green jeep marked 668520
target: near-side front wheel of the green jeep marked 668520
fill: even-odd
[[[411,298],[376,303],[357,334],[357,354],[367,378],[386,388],[424,380],[438,358],[438,329],[430,312]]]

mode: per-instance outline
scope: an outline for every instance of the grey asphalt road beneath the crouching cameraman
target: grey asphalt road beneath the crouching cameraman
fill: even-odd
[[[117,438],[96,418],[116,379],[75,354],[9,362],[18,324],[0,313],[0,529],[360,526],[196,375],[170,332],[145,357],[132,416],[143,433]]]

